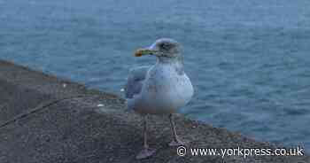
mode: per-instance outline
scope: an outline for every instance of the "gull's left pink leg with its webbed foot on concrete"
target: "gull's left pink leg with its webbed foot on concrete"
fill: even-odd
[[[147,123],[146,123],[146,117],[147,115],[143,116],[143,150],[140,151],[137,155],[136,155],[136,159],[146,159],[151,157],[156,150],[155,149],[151,149],[149,147],[149,144],[147,144]]]

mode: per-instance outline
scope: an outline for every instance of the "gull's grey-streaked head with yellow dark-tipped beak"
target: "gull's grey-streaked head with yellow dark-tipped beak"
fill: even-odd
[[[150,47],[136,50],[135,56],[154,55],[160,58],[179,58],[182,47],[180,43],[170,38],[160,38]]]

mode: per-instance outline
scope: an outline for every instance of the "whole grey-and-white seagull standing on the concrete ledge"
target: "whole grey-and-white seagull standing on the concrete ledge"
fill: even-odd
[[[153,66],[138,66],[129,71],[125,97],[129,110],[143,115],[143,150],[136,159],[151,157],[156,150],[147,143],[147,115],[168,115],[173,140],[169,146],[184,145],[176,133],[173,113],[190,102],[194,89],[183,70],[182,46],[170,38],[161,38],[150,47],[136,50],[135,56],[157,57]]]

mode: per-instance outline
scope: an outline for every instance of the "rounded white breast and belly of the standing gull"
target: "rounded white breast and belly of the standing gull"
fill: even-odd
[[[173,67],[155,67],[143,85],[141,107],[143,113],[174,113],[186,105],[193,95],[193,87],[186,74],[178,74]]]

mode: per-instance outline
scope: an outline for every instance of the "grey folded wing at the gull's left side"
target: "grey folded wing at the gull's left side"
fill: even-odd
[[[141,92],[143,81],[151,66],[138,66],[130,70],[125,86],[125,97],[133,98]]]

